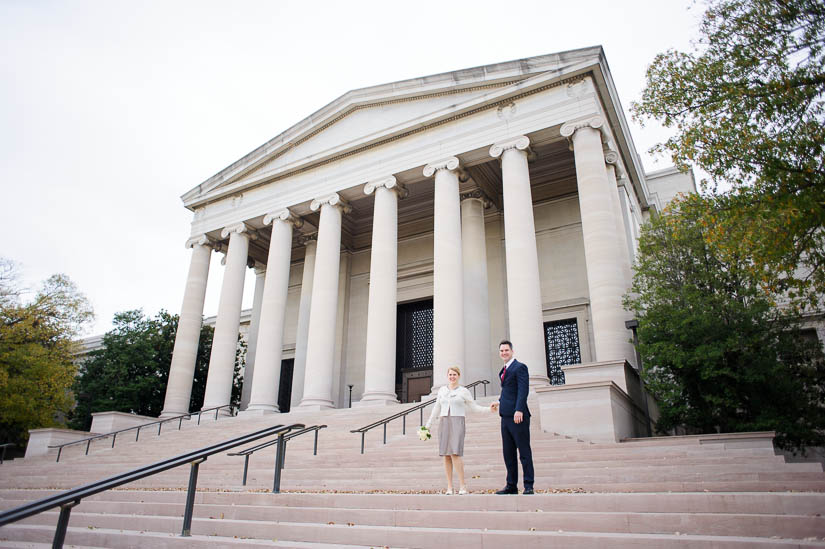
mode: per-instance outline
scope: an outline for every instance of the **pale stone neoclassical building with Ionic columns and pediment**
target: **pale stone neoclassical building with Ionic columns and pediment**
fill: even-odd
[[[636,238],[690,190],[690,174],[644,173],[601,47],[348,92],[183,195],[164,414],[188,411],[215,251],[206,408],[230,399],[247,269],[247,413],[410,402],[449,365],[496,380],[505,337],[539,394],[566,375],[638,400],[622,307]]]

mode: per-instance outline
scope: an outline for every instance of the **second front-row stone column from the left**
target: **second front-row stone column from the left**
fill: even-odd
[[[221,231],[221,238],[229,237],[229,251],[226,254],[218,318],[212,338],[209,375],[206,378],[206,395],[203,399],[204,409],[229,404],[232,397],[232,373],[238,348],[238,329],[241,324],[243,283],[250,236],[249,227],[245,223],[238,223]]]

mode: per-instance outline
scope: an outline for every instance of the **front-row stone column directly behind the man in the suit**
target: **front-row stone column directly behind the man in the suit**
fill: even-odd
[[[527,167],[530,140],[519,136],[494,144],[501,158],[504,193],[504,249],[507,261],[507,313],[516,358],[530,371],[530,385],[549,385],[544,350],[541,278],[533,219],[533,195]]]

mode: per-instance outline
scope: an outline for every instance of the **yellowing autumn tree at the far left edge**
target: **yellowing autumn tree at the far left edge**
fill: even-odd
[[[29,429],[56,427],[72,408],[74,339],[94,317],[65,275],[43,282],[33,298],[15,265],[0,259],[0,442],[22,445]]]

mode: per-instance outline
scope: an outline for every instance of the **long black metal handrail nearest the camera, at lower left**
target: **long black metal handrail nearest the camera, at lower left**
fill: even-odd
[[[248,444],[250,442],[253,442],[264,437],[272,435],[278,435],[279,437],[283,437],[292,429],[303,428],[304,425],[301,423],[294,423],[292,425],[286,426],[275,425],[273,427],[267,427],[266,429],[262,429],[260,431],[256,431],[254,433],[250,433],[248,435],[244,435],[242,437],[238,437],[235,439],[220,442],[213,446],[207,446],[206,448],[201,448],[200,450],[195,450],[193,452],[189,452],[188,454],[182,454],[180,456],[165,459],[163,461],[158,461],[150,465],[144,465],[143,467],[139,467],[137,469],[133,469],[125,473],[120,473],[113,477],[98,480],[96,482],[85,484],[83,486],[78,486],[77,488],[72,488],[71,490],[63,492],[62,494],[57,494],[54,496],[39,499],[37,501],[33,501],[31,503],[27,503],[25,505],[21,505],[19,507],[15,507],[14,509],[10,509],[8,511],[0,513],[0,526],[4,526],[12,522],[17,522],[18,520],[22,520],[32,515],[37,515],[44,511],[49,511],[50,509],[54,509],[55,507],[60,507],[60,518],[58,518],[57,520],[57,529],[55,530],[54,540],[52,542],[52,547],[59,549],[63,547],[63,542],[66,539],[66,529],[69,526],[69,515],[72,512],[72,508],[79,504],[83,498],[87,498],[100,492],[105,492],[106,490],[117,488],[118,486],[122,486],[123,484],[128,484],[130,482],[134,482],[142,478],[156,475],[158,473],[162,473],[164,471],[168,471],[169,469],[174,469],[175,467],[180,467],[181,465],[186,465],[188,463],[191,466],[191,469],[189,472],[189,486],[186,493],[186,506],[183,515],[183,529],[181,530],[181,536],[189,536],[192,529],[192,510],[195,506],[195,491],[198,482],[198,467],[201,463],[206,461],[206,458],[213,454],[225,452],[237,446],[242,446],[244,444]],[[279,464],[276,462],[276,478],[280,477],[278,465]]]

